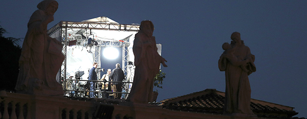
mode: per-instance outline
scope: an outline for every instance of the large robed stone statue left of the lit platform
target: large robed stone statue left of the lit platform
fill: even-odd
[[[64,61],[62,43],[47,35],[47,24],[54,20],[58,2],[45,0],[37,5],[29,22],[21,55],[15,90],[35,95],[62,95],[56,75]]]

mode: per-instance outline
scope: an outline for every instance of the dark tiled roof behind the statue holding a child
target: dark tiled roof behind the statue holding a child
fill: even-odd
[[[225,93],[212,89],[161,101],[166,109],[222,114]],[[298,114],[293,107],[251,100],[251,110],[258,117],[290,118]]]

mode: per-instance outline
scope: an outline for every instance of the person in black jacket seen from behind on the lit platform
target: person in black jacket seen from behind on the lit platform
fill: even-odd
[[[113,84],[112,89],[113,92],[121,92],[121,81],[125,78],[123,71],[120,68],[120,64],[115,65],[116,68],[112,70],[110,78],[112,81],[119,81],[119,82],[112,82]],[[118,93],[113,93],[114,99],[120,99],[121,95]]]

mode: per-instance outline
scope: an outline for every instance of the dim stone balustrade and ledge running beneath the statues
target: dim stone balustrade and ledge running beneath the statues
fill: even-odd
[[[78,100],[63,96],[38,96],[1,91],[0,118],[2,119],[171,119],[171,118],[208,118],[208,119],[255,119],[199,112],[175,111],[162,106],[125,102],[119,99]]]

